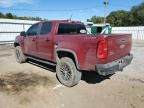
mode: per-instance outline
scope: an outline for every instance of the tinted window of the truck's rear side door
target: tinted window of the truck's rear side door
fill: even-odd
[[[42,27],[41,27],[40,34],[44,35],[44,34],[50,33],[51,32],[51,27],[52,27],[52,24],[50,22],[43,23]]]

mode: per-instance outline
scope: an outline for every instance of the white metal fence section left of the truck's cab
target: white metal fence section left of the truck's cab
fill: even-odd
[[[0,44],[13,43],[15,37],[38,21],[0,19]]]

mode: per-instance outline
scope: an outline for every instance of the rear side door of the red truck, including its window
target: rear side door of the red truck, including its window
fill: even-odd
[[[52,60],[53,39],[51,35],[51,22],[41,23],[40,34],[37,37],[37,52],[39,58]]]

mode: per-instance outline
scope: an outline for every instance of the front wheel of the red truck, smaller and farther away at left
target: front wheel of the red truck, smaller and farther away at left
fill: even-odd
[[[24,63],[24,62],[26,62],[26,57],[23,54],[20,46],[16,46],[15,47],[15,57],[16,57],[16,61],[18,63]]]

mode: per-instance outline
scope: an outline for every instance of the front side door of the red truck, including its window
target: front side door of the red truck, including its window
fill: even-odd
[[[36,56],[36,38],[39,31],[39,24],[32,25],[24,39],[25,53],[28,55]]]

